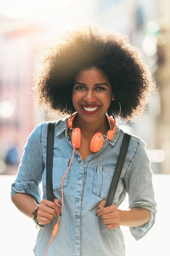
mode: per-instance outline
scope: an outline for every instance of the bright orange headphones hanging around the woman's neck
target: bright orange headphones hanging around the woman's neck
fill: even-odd
[[[70,118],[68,119],[68,129],[72,130],[72,145],[74,144],[75,148],[79,148],[81,144],[81,130],[80,128],[72,128],[73,120],[76,117],[77,112],[74,112]],[[93,136],[91,143],[90,143],[90,150],[92,152],[98,152],[102,148],[103,144],[107,140],[111,140],[114,137],[115,130],[116,130],[116,120],[113,117],[109,117],[108,115],[107,119],[109,122],[110,130],[108,130],[107,135],[103,135],[101,132],[96,132]]]

